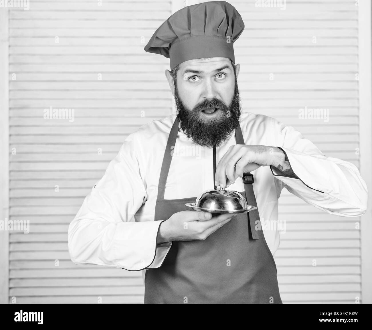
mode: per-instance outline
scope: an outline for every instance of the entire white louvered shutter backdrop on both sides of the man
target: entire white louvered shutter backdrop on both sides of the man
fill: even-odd
[[[359,166],[355,1],[287,1],[283,11],[229,2],[246,25],[235,45],[243,109],[293,125],[325,155]],[[143,51],[171,6],[54,0],[11,10],[10,219],[31,225],[30,234],[10,235],[10,297],[18,303],[143,302],[140,272],[74,265],[67,228],[124,138],[171,112],[169,62]],[[74,108],[75,121],[44,119],[51,106]],[[299,119],[305,106],[329,108],[329,122]],[[283,302],[355,303],[359,218],[327,215],[286,190],[279,213]]]

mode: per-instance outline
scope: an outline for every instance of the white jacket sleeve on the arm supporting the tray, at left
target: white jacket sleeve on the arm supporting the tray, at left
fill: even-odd
[[[68,227],[68,251],[78,265],[156,268],[170,248],[170,244],[156,246],[162,221],[134,221],[147,197],[135,134],[126,138]]]

